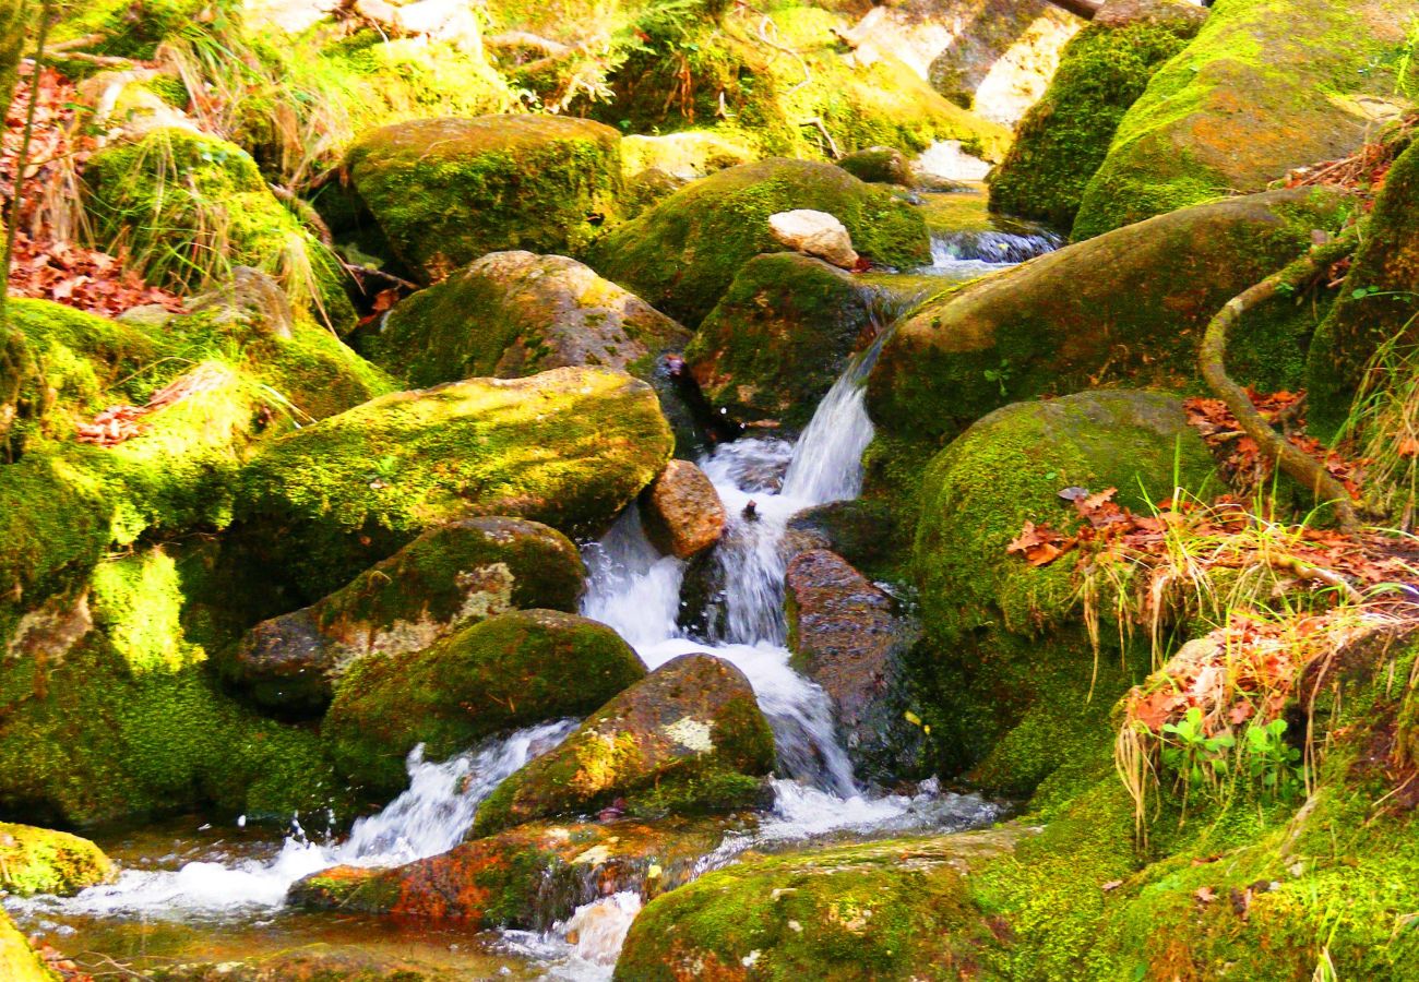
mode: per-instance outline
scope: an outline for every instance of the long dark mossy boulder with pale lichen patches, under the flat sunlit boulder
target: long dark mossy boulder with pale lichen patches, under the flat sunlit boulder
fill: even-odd
[[[263,705],[321,710],[368,656],[420,651],[508,610],[575,612],[585,568],[570,539],[521,518],[438,525],[335,593],[241,639],[227,674]]]

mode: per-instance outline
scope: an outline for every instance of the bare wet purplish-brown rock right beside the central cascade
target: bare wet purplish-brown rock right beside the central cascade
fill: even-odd
[[[922,732],[905,715],[912,627],[890,596],[827,549],[796,556],[785,585],[793,666],[833,701],[854,772],[880,783],[920,776]]]

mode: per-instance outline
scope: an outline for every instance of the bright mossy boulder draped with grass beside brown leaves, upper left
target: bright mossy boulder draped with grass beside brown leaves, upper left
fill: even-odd
[[[297,308],[338,332],[355,326],[348,274],[271,193],[234,143],[155,129],[99,150],[84,167],[95,236],[149,282],[189,291],[233,267],[274,275]]]

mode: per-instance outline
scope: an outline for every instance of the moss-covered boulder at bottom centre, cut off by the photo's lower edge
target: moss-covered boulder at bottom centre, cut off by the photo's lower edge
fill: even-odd
[[[993,939],[969,884],[1022,836],[1005,827],[839,846],[710,873],[641,911],[616,978],[956,978]]]

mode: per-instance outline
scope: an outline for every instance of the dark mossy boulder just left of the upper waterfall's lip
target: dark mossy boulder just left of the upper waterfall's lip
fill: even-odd
[[[797,253],[755,255],[685,349],[710,404],[800,429],[876,326],[853,277]]]

